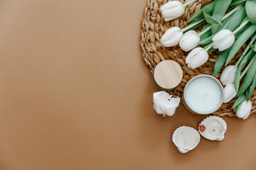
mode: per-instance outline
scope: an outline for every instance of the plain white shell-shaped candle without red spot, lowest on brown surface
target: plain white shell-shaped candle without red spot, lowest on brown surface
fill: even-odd
[[[174,131],[172,140],[174,145],[178,148],[178,151],[185,154],[198,145],[200,135],[194,128],[181,126]]]

